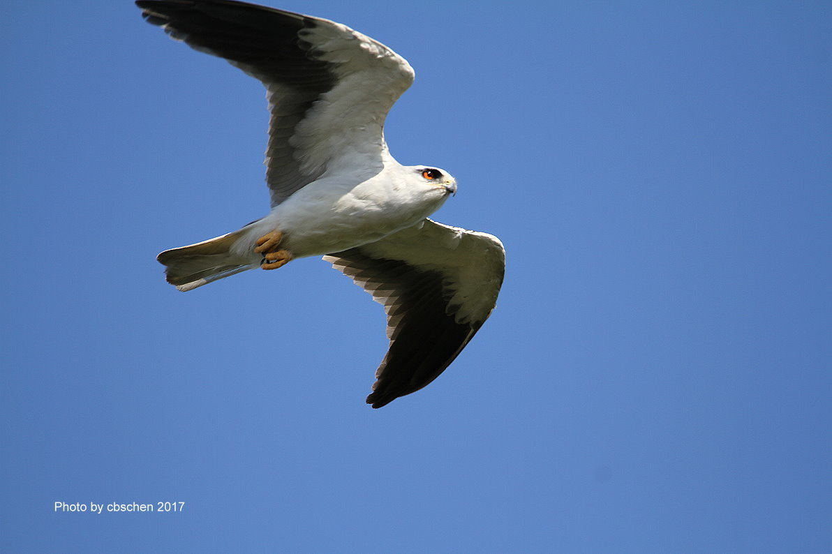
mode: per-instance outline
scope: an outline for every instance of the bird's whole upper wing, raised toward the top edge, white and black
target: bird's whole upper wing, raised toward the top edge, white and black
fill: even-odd
[[[384,119],[414,80],[413,68],[388,47],[336,22],[245,2],[136,5],[171,37],[263,82],[273,206],[324,171],[347,166],[369,177],[381,170]]]

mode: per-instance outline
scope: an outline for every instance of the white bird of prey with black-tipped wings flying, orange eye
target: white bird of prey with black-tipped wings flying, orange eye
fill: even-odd
[[[457,183],[402,166],[384,119],[414,81],[404,58],[349,27],[231,0],[138,0],[147,22],[260,80],[269,103],[271,211],[240,230],[166,250],[167,281],[196,289],[322,255],[384,304],[389,349],[367,403],[437,378],[491,314],[505,270],[494,236],[429,220]]]

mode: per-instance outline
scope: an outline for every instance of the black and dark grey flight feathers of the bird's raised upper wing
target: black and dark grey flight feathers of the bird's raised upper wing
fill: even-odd
[[[323,174],[324,168],[301,171],[290,137],[314,101],[337,82],[331,65],[316,59],[313,46],[298,34],[329,22],[227,0],[137,0],[136,6],[171,37],[223,57],[264,83],[271,104],[266,156],[272,205]]]

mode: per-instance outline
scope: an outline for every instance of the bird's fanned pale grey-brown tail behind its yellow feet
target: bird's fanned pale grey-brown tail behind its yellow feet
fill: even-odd
[[[231,246],[244,231],[245,228],[215,239],[203,240],[196,245],[165,250],[156,256],[156,260],[165,265],[168,283],[182,291],[196,289],[203,284],[256,267],[250,259],[231,253]]]

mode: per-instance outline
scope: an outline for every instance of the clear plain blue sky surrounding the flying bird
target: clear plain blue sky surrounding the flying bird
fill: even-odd
[[[828,552],[832,4],[695,3],[276,5],[411,62],[391,151],[508,250],[380,410],[329,265],[155,260],[267,212],[260,84],[126,0],[4,5],[2,550]]]

